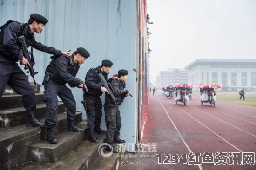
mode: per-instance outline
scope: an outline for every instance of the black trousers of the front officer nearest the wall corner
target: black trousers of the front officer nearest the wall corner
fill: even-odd
[[[121,116],[119,109],[115,104],[105,102],[105,120],[107,126],[106,142],[113,143],[113,140],[117,140],[120,135],[120,129],[122,126]]]

